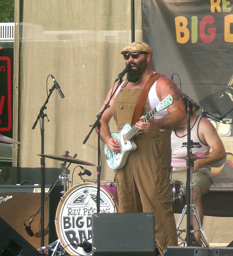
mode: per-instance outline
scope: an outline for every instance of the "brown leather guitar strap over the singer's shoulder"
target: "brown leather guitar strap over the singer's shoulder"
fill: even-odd
[[[149,90],[152,86],[152,84],[158,80],[161,76],[159,73],[154,73],[149,80],[146,82],[145,86],[142,89],[141,94],[139,95],[138,99],[137,99],[137,103],[133,112],[133,117],[132,117],[132,121],[131,121],[131,125],[135,125],[135,123],[137,123],[139,121],[139,118],[142,116],[142,109],[144,107],[144,104],[146,102],[146,97],[149,93]]]

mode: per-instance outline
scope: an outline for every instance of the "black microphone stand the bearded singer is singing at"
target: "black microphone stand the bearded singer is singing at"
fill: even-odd
[[[117,80],[118,79],[116,79],[116,81]],[[112,97],[116,93],[116,91],[119,88],[121,83],[122,83],[122,76],[119,77],[119,82],[118,82],[117,88],[114,90],[114,92],[110,96],[110,99],[107,102],[107,104],[105,105],[104,109],[96,116],[96,122],[93,125],[90,125],[90,126],[92,126],[92,128],[91,128],[89,134],[87,135],[87,137],[85,138],[85,140],[83,141],[83,144],[85,144],[87,142],[87,140],[89,139],[93,130],[97,127],[97,134],[98,134],[98,166],[97,166],[97,197],[96,197],[97,213],[100,213],[100,175],[101,175],[101,165],[100,165],[100,162],[101,162],[100,161],[100,159],[101,159],[101,150],[100,150],[100,127],[101,127],[101,123],[100,123],[100,119],[101,119],[103,113],[105,112],[105,110],[110,107],[109,103],[110,103]]]

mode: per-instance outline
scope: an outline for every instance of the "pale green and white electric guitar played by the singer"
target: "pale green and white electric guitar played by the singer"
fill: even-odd
[[[169,94],[164,100],[162,100],[155,108],[147,112],[141,122],[148,122],[159,110],[165,109],[173,102],[173,97]],[[105,144],[105,156],[109,167],[115,171],[121,169],[128,158],[128,154],[137,148],[133,136],[139,131],[135,126],[131,127],[129,123],[126,123],[119,133],[111,133],[112,138],[116,138],[121,146],[121,153],[115,153],[111,151],[107,144]]]

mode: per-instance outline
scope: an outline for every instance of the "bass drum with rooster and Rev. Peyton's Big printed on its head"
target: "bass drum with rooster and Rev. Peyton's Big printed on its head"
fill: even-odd
[[[91,255],[91,248],[75,244],[91,238],[91,215],[96,213],[97,185],[95,180],[76,184],[61,197],[55,226],[57,236],[70,255]],[[116,213],[117,191],[115,182],[100,182],[100,213]],[[91,239],[88,242],[92,242]]]

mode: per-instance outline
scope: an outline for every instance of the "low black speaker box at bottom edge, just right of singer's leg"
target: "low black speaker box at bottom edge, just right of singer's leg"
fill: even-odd
[[[167,246],[165,256],[209,256],[209,248],[191,246]]]

